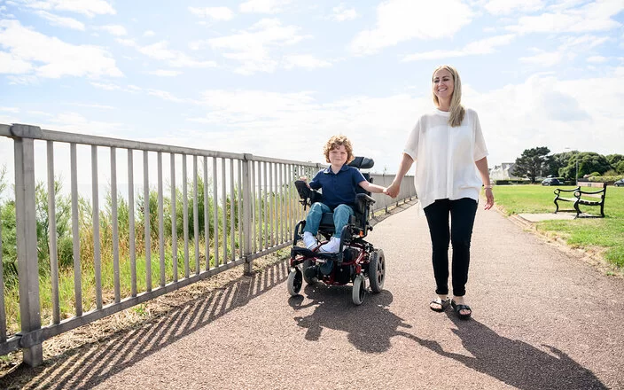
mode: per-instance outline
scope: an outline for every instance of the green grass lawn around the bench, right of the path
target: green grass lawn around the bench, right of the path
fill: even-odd
[[[497,185],[494,188],[495,204],[507,215],[521,213],[553,213],[555,211],[555,188],[572,189],[572,186],[547,187],[542,185]],[[597,188],[585,188],[597,191]],[[569,202],[559,206],[572,208]],[[599,214],[599,207],[583,207],[581,211]],[[624,269],[624,187],[607,186],[605,218],[578,218],[566,221],[537,222],[537,230],[564,238],[568,245],[576,247],[600,247],[605,249],[605,259]]]

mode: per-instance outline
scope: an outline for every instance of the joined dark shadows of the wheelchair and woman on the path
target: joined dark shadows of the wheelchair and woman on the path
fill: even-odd
[[[452,311],[447,316],[456,325],[452,331],[461,339],[466,355],[445,351],[438,341],[420,339],[400,329],[409,329],[411,325],[390,311],[393,295],[386,290],[369,293],[360,307],[351,302],[350,285],[308,285],[303,293],[309,300],[305,304],[303,296],[292,297],[289,303],[295,310],[314,307],[310,315],[294,317],[300,327],[308,330],[308,340],[320,339],[324,329],[344,331],[357,349],[383,353],[390,348],[390,339],[401,336],[522,390],[607,389],[593,372],[556,347],[544,345],[544,351],[524,341],[505,338],[474,319],[459,320]]]

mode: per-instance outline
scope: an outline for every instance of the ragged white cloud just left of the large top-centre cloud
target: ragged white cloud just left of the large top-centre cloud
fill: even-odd
[[[235,69],[239,74],[271,73],[279,66],[277,59],[271,57],[271,49],[283,49],[284,46],[309,38],[309,35],[299,35],[299,29],[300,27],[295,26],[282,26],[276,19],[263,19],[238,34],[196,44],[200,47],[207,43],[214,50],[222,51],[223,57],[240,62],[240,66]]]

